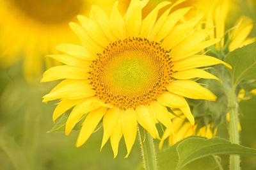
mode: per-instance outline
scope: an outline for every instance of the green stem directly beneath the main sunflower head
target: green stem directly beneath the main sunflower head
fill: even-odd
[[[143,127],[138,125],[138,134],[140,138],[141,152],[145,170],[156,170],[156,151],[154,141],[148,132]]]

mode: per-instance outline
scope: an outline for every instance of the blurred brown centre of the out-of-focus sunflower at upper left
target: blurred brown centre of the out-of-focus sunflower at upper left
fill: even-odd
[[[83,0],[12,0],[26,16],[44,24],[68,23],[82,10]]]

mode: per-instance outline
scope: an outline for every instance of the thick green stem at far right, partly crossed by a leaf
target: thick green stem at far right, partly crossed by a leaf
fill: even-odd
[[[230,123],[229,123],[230,142],[239,144],[239,130],[238,130],[239,120],[238,120],[238,112],[237,112],[236,86],[233,86],[231,90],[229,111],[230,111]],[[231,170],[240,169],[239,155],[230,155],[230,169]]]

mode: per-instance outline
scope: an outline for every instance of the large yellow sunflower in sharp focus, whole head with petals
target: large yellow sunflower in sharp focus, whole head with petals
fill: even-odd
[[[138,124],[159,139],[156,123],[174,128],[168,107],[179,109],[191,125],[195,120],[186,98],[216,100],[216,96],[197,82],[196,77],[218,79],[200,69],[223,61],[196,54],[218,42],[205,40],[211,30],[195,31],[202,15],[179,22],[191,8],[170,12],[177,3],[159,3],[145,19],[141,10],[148,1],[132,0],[124,16],[118,1],[110,17],[93,5],[90,18],[78,15],[81,23],[70,22],[82,45],[61,44],[63,54],[51,55],[65,65],[47,70],[42,82],[64,79],[45,95],[43,102],[60,99],[53,113],[55,121],[74,107],[65,134],[84,119],[76,146],[83,145],[102,120],[101,148],[110,138],[114,157],[124,135],[127,157],[136,139]],[[157,19],[161,8],[167,10]]]

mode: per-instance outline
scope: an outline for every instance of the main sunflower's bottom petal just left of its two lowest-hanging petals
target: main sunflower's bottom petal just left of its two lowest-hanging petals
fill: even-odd
[[[106,112],[106,114],[104,115],[104,118],[102,121],[104,133],[103,133],[103,139],[100,146],[100,150],[102,150],[103,146],[106,144],[110,135],[112,134],[115,128],[116,122],[118,121],[119,115],[120,115],[120,109],[118,107],[113,107],[113,109],[109,109],[108,112]]]

